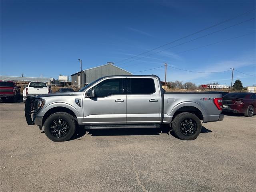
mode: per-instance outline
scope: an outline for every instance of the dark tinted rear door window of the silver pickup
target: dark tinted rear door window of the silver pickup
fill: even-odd
[[[127,94],[152,94],[156,91],[152,78],[127,78]]]

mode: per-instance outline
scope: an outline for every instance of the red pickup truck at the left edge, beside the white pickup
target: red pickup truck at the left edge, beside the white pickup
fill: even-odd
[[[13,81],[0,80],[0,99],[12,99],[17,102],[20,98],[20,86]]]

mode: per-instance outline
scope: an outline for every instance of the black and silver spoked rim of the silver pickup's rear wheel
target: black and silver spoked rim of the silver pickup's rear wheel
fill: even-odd
[[[196,133],[197,124],[192,118],[186,118],[180,122],[180,131],[185,136],[192,136]]]

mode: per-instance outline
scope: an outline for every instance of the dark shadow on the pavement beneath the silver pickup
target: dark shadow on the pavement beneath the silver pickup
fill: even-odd
[[[76,132],[70,140],[78,139],[84,136],[88,132],[91,136],[126,136],[126,135],[160,135],[160,134],[170,134],[177,138],[169,126],[164,126],[161,128],[124,128],[124,129],[95,129],[95,130],[85,130],[80,127],[76,129]],[[202,126],[201,133],[211,133],[212,131]]]

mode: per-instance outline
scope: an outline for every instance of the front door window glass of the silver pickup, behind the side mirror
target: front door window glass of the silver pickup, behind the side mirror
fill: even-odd
[[[123,79],[106,79],[92,88],[96,97],[123,94]]]

